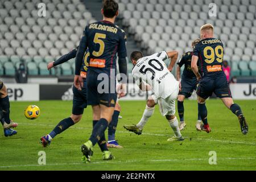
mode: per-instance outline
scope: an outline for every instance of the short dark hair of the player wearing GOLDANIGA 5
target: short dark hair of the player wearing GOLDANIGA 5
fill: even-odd
[[[102,9],[106,18],[113,18],[115,15],[117,15],[118,3],[114,0],[104,0]]]

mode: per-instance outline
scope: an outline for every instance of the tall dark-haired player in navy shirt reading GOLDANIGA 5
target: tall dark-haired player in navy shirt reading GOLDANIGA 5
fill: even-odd
[[[93,109],[93,131],[89,140],[82,144],[82,160],[90,162],[93,155],[93,146],[100,142],[104,160],[114,159],[108,150],[105,141],[105,130],[112,120],[114,106],[117,100],[115,91],[115,70],[118,53],[119,72],[127,74],[126,35],[121,28],[114,24],[118,15],[118,3],[114,0],[103,1],[101,13],[103,20],[89,24],[85,27],[76,55],[76,71],[74,85],[81,89],[82,81],[79,68],[82,56],[88,47],[90,52],[87,72],[88,105]],[[126,82],[122,79],[122,82]],[[122,84],[121,89],[125,87]],[[122,93],[122,92],[121,92]]]

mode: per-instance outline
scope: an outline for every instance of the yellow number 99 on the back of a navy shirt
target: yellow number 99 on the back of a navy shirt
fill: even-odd
[[[208,51],[210,51],[210,54],[208,54]],[[219,53],[220,51],[220,53]],[[217,46],[215,49],[213,49],[210,46],[207,46],[204,48],[204,57],[205,62],[207,62],[208,64],[213,63],[213,61],[215,60],[215,55],[217,56],[216,60],[218,61],[218,63],[222,63],[223,61],[223,47],[222,46]]]

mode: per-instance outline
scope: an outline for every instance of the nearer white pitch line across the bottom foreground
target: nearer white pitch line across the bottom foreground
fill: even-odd
[[[192,158],[192,159],[155,159],[155,160],[112,160],[112,161],[99,161],[91,162],[88,165],[93,164],[118,164],[118,163],[158,163],[158,162],[184,162],[184,161],[201,161],[209,160],[208,158]],[[247,157],[247,158],[217,158],[217,160],[256,160],[256,158]],[[14,165],[14,166],[0,166],[0,168],[12,168],[12,167],[44,167],[44,166],[67,166],[67,165],[86,165],[85,163],[52,163],[46,165],[39,164],[25,164],[25,165]]]

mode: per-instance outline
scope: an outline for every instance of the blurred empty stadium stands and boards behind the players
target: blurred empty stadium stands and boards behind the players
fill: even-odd
[[[191,42],[199,38],[200,27],[212,23],[215,36],[224,42],[224,60],[231,67],[230,78],[256,88],[253,84],[256,82],[255,0],[118,2],[117,24],[126,31],[128,56],[134,49],[141,49],[145,55],[176,49],[181,56],[192,50]],[[39,3],[46,4],[46,17],[38,16]],[[102,0],[1,0],[0,76],[9,86],[9,92],[14,93],[11,99],[70,99],[75,61],[51,71],[47,70],[47,63],[79,45],[86,24],[101,20],[101,3]],[[210,3],[217,5],[216,17],[208,15]],[[15,73],[21,62],[26,65],[27,86],[15,84]],[[128,59],[127,63],[130,72],[133,65]],[[38,96],[31,96],[35,93],[28,89],[30,86],[34,86],[31,88],[35,93],[38,90]],[[241,89],[241,85],[234,88]],[[255,99],[256,93],[252,92],[248,98]]]

